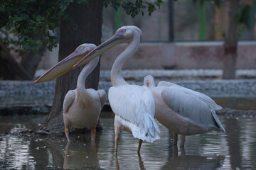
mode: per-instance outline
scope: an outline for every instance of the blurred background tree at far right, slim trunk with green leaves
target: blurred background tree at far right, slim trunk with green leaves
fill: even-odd
[[[200,8],[203,8],[206,0],[197,1]],[[215,6],[222,8],[228,3],[228,23],[223,31],[224,35],[224,56],[223,56],[223,79],[235,79],[235,67],[238,57],[238,40],[241,34],[240,28],[251,29],[255,24],[255,0],[213,0]]]

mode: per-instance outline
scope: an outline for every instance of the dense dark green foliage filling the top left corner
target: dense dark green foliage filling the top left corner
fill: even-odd
[[[1,0],[0,35],[5,45],[36,50],[56,46],[54,29],[71,1]]]

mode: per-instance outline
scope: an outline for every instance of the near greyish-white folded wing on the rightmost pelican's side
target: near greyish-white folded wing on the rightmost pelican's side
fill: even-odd
[[[159,87],[160,86],[157,88]],[[215,116],[215,111],[197,96],[193,96],[184,91],[178,90],[175,86],[160,88],[161,96],[165,103],[173,111],[185,118],[188,118],[188,120],[192,123],[201,125],[202,127],[208,127],[209,125],[220,123],[220,120],[215,119],[215,117],[217,117],[217,115]]]

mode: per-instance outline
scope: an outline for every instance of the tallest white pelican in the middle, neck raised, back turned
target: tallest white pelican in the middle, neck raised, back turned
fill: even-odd
[[[159,139],[159,127],[154,120],[154,96],[146,86],[130,85],[121,75],[122,65],[139,46],[142,30],[136,26],[124,26],[109,40],[92,50],[88,55],[83,57],[74,68],[79,67],[87,60],[101,55],[106,50],[127,42],[129,45],[122,52],[111,69],[112,87],[109,90],[108,98],[110,106],[114,112],[114,152],[117,153],[119,136],[122,130],[132,133],[135,138],[139,139],[137,152],[140,152],[142,142],[153,142]]]

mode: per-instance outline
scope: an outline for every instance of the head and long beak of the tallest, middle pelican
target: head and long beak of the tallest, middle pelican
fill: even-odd
[[[74,65],[73,69],[80,67],[82,64],[89,62],[95,57],[102,55],[110,48],[122,44],[122,43],[130,43],[134,39],[134,37],[140,38],[142,35],[142,30],[137,28],[137,26],[123,26],[119,28],[116,33],[108,40],[103,42],[101,45],[97,46],[94,50],[89,52],[85,57],[82,58],[77,64]]]

